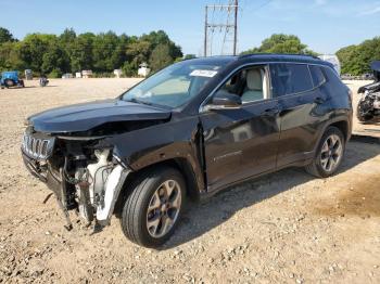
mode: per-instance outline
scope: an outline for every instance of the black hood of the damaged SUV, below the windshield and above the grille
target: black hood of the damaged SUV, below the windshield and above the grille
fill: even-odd
[[[167,119],[170,111],[118,99],[52,108],[28,118],[36,131],[67,133],[87,131],[105,122]]]

